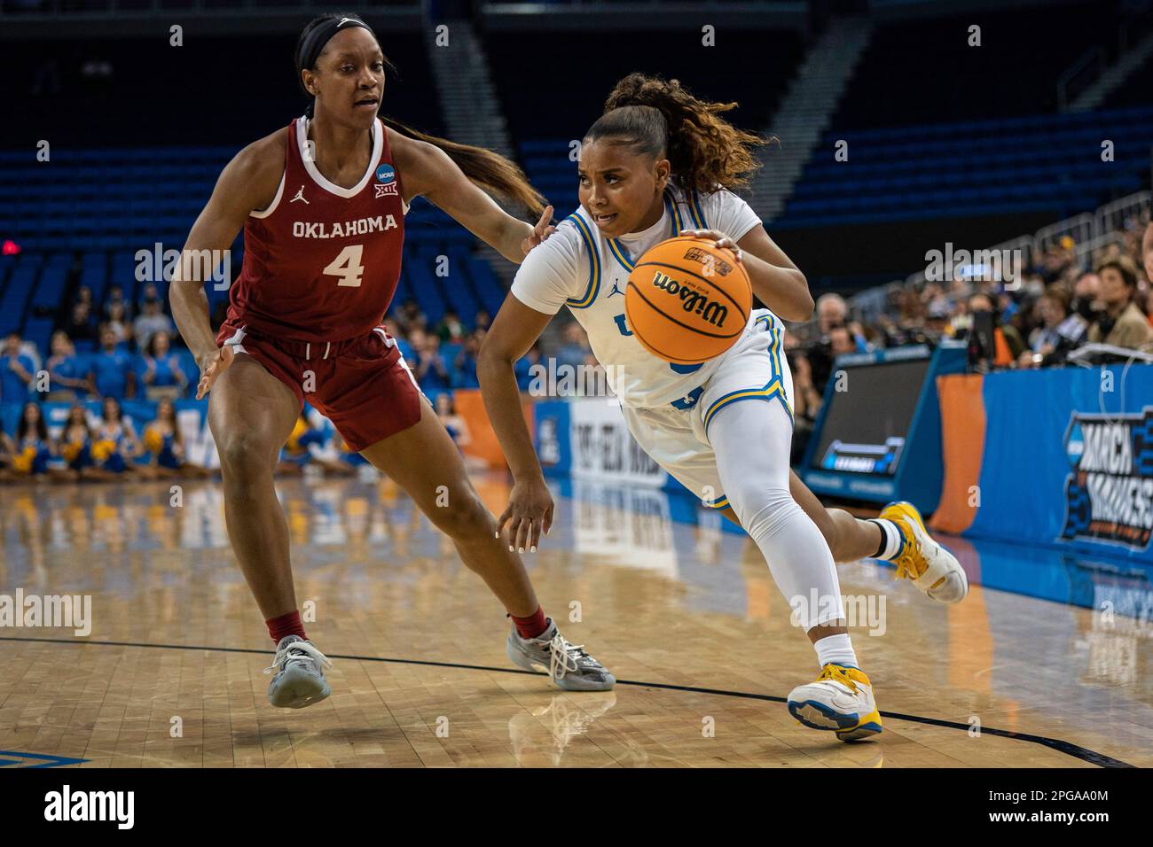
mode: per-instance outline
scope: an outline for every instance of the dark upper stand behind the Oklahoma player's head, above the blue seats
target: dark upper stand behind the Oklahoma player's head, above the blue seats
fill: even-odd
[[[2,24],[0,24],[2,25]],[[191,29],[191,28],[190,28]],[[443,134],[439,104],[421,37],[385,38],[400,78],[385,85],[384,113]],[[9,114],[0,150],[54,151],[157,144],[244,144],[284,127],[307,105],[293,68],[294,35],[198,37],[169,47],[164,37],[92,41],[5,41]],[[106,60],[111,78],[85,76]]]

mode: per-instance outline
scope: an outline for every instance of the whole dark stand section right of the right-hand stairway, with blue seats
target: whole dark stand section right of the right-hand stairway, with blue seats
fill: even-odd
[[[1148,68],[1107,105],[1060,113],[1057,81],[1111,55],[1118,6],[1055,3],[879,24],[776,227],[1095,209],[1148,183]],[[1043,17],[1039,17],[1042,15]],[[981,46],[969,46],[969,27]],[[1144,85],[1141,83],[1144,78]],[[849,160],[834,159],[838,139]],[[1101,143],[1114,142],[1114,161]]]

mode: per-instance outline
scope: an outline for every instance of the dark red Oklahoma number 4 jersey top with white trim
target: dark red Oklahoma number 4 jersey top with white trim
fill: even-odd
[[[307,119],[297,118],[277,196],[244,224],[227,320],[271,338],[344,341],[371,332],[392,302],[408,207],[379,119],[368,171],[352,188],[324,179],[307,141]]]

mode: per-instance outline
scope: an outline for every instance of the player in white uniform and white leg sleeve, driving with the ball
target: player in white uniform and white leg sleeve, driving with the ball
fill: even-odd
[[[964,572],[906,504],[890,505],[873,522],[809,506],[832,527],[822,534],[790,494],[792,378],[782,349],[784,324],[774,311],[754,311],[736,346],[692,366],[653,356],[625,320],[623,292],[635,262],[685,233],[732,249],[754,293],[776,312],[796,320],[812,313],[804,275],[752,209],[723,187],[741,184],[741,172],[755,167],[747,150],[755,136],[718,118],[724,108],[698,100],[676,81],[633,74],[618,83],[605,114],[586,134],[581,207],[525,258],[477,366],[515,479],[502,525],[508,522],[514,546],[532,551],[540,530],[551,524],[552,500],[520,413],[512,365],[567,305],[605,366],[636,441],[707,505],[740,523],[793,606],[821,675],[792,690],[791,713],[842,740],[866,739],[881,732],[881,716],[844,626],[826,535],[851,550],[852,559],[897,561],[900,575],[943,602],[964,597]],[[702,192],[702,184],[714,188]]]

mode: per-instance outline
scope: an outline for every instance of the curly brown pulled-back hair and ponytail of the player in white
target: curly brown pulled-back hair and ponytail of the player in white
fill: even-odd
[[[658,75],[630,74],[604,101],[604,114],[589,127],[585,141],[619,139],[638,153],[662,156],[671,179],[684,189],[714,191],[747,186],[761,167],[753,149],[769,144],[737,129],[721,116],[736,103],[699,100],[680,84]]]

